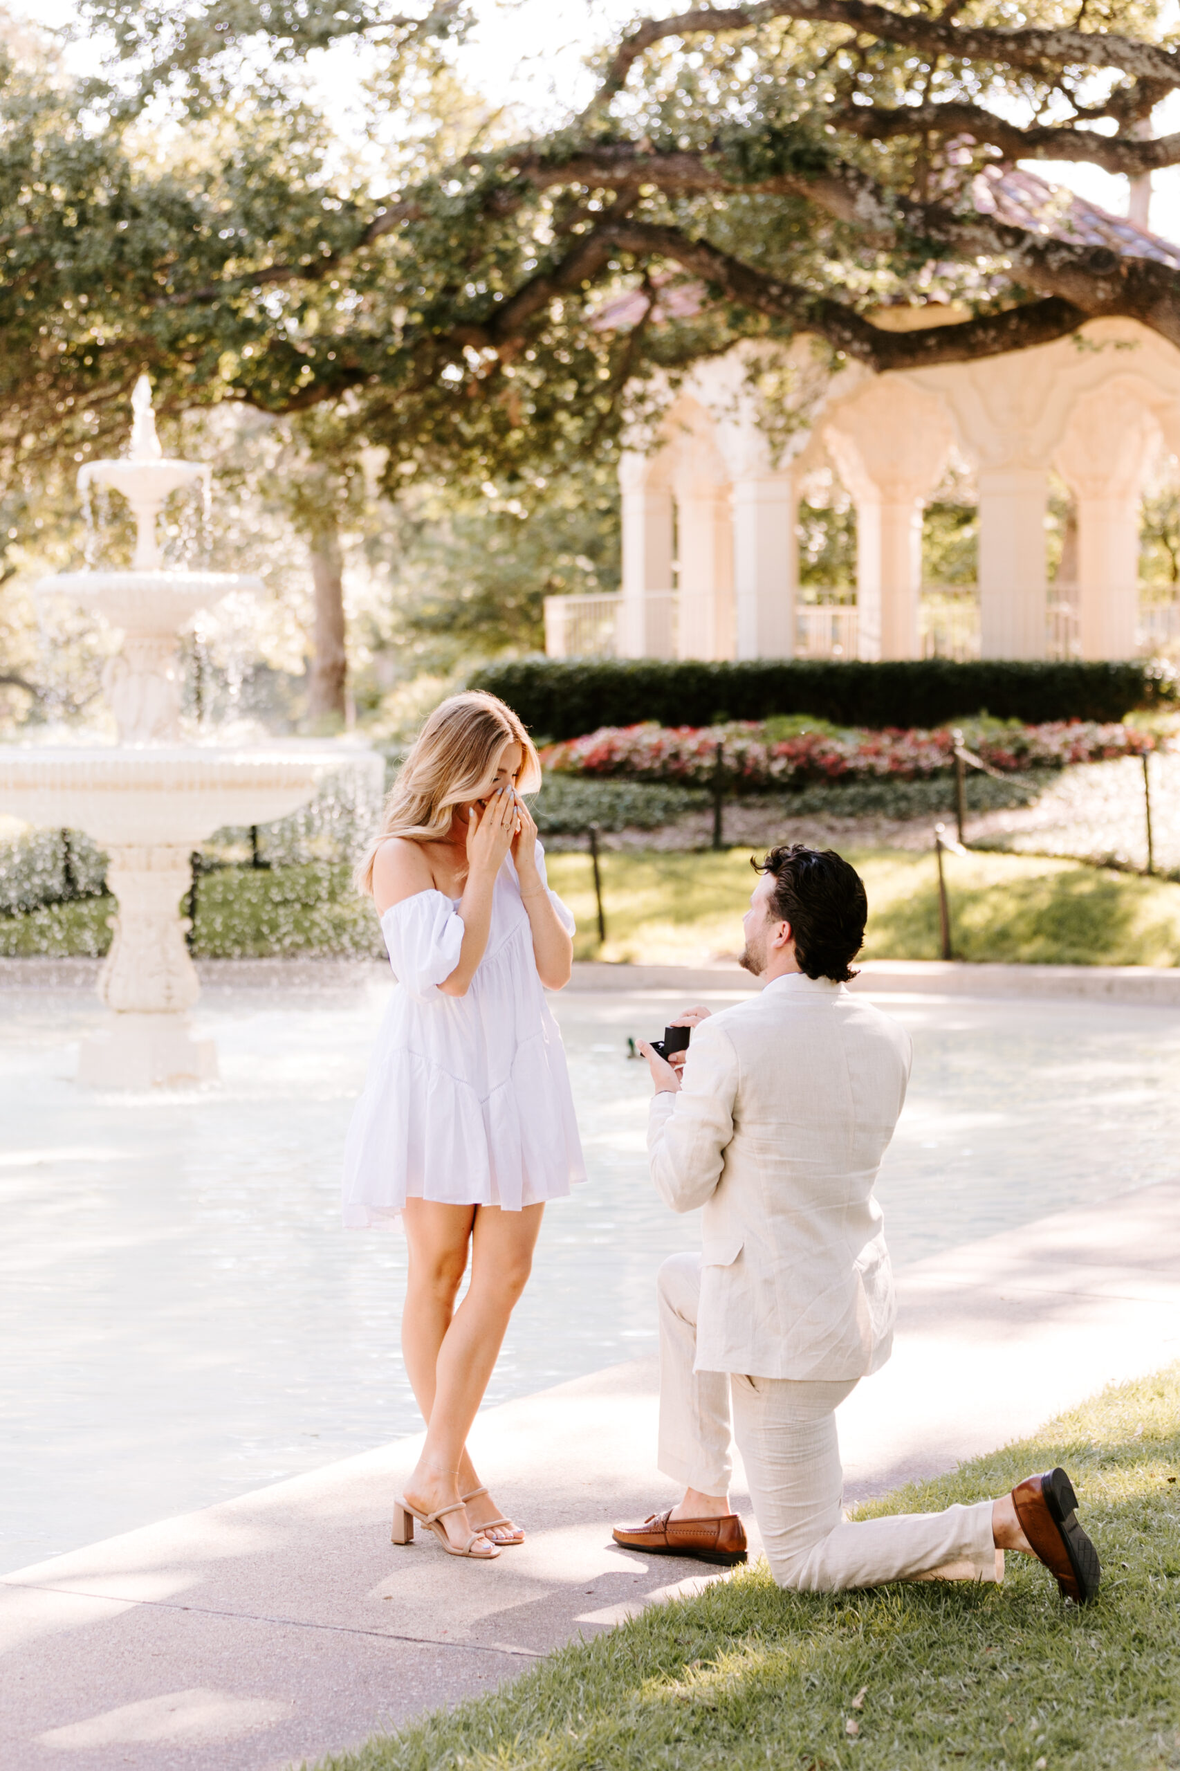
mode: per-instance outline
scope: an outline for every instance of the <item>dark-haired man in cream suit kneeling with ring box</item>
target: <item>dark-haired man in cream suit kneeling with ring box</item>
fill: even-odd
[[[930,1576],[998,1580],[1003,1551],[1038,1557],[1075,1603],[1098,1557],[1065,1470],[946,1512],[849,1523],[836,1408],[891,1350],[893,1275],[873,1199],[909,1080],[907,1032],[845,990],[868,903],[840,855],[774,848],[746,914],[742,965],[760,995],[691,1009],[682,1075],[643,1047],[656,1098],[652,1179],[702,1211],[702,1254],[659,1272],[659,1468],[679,1505],[617,1543],[744,1562],[730,1511],[730,1410],[780,1587],[835,1592]]]

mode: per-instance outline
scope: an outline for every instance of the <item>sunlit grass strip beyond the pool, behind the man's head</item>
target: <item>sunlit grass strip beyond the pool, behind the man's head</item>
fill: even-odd
[[[935,960],[934,855],[849,848],[868,891],[865,958]],[[578,958],[700,965],[741,949],[755,875],[749,850],[604,854],[606,944],[599,947],[590,859],[547,859],[578,917]],[[946,857],[955,955],[1031,965],[1180,963],[1180,886],[1106,873],[1077,861],[973,854]]]

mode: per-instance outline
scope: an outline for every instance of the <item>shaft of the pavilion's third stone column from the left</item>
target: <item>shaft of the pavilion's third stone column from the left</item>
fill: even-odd
[[[734,482],[734,622],[739,659],[788,659],[796,652],[799,544],[792,473]]]

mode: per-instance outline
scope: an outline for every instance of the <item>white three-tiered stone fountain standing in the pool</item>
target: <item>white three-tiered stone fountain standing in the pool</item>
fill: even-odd
[[[186,744],[181,740],[177,636],[232,590],[262,590],[239,572],[170,570],[156,522],[170,492],[209,482],[198,462],[165,460],[151,384],[140,377],[124,460],[87,462],[78,482],[112,485],[129,501],[136,547],[129,572],[64,572],[39,593],[73,599],[122,629],[103,671],[115,746],[0,747],[0,809],[27,824],[87,831],[110,855],[119,900],[97,992],[110,1027],[82,1047],[78,1080],[144,1087],[216,1075],[211,1041],[193,1040],[188,1011],[200,995],[181,916],[190,854],[223,825],[269,824],[307,804],[321,781],[361,770],[379,790],[381,758],[338,744]]]

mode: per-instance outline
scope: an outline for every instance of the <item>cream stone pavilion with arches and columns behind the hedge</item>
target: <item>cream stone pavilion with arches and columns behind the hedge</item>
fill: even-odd
[[[1022,172],[985,179],[978,193],[1022,225],[1051,197]],[[1180,267],[1180,248],[1077,198],[1067,223]],[[930,324],[930,312],[877,319]],[[794,429],[778,459],[757,421],[746,351],[700,365],[656,445],[625,455],[622,592],[551,597],[551,655],[1127,659],[1169,638],[1175,607],[1152,611],[1153,627],[1139,609],[1143,483],[1161,450],[1180,453],[1180,351],[1159,335],[1093,321],[1029,351],[884,375],[859,365],[827,375],[797,338],[785,352]],[[923,620],[921,519],[950,462],[978,489],[978,584],[960,597],[960,630],[939,636]],[[1049,599],[1051,469],[1077,519],[1068,600]],[[797,508],[817,473],[835,475],[856,505],[854,602],[799,597]]]

